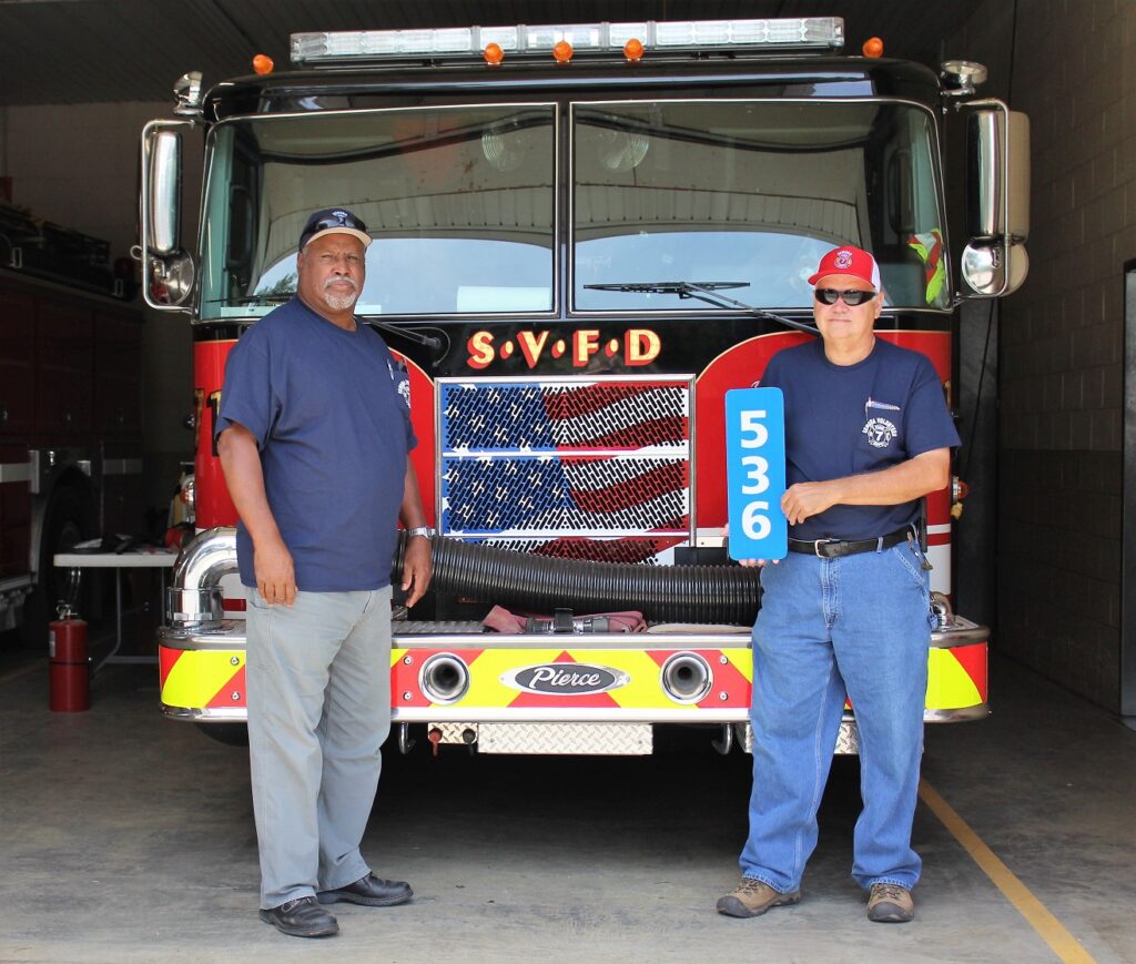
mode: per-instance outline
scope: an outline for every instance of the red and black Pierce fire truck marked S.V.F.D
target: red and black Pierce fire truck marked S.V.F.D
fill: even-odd
[[[878,336],[925,352],[949,401],[960,303],[1026,274],[1026,118],[977,95],[980,65],[936,76],[878,41],[847,56],[843,33],[827,17],[303,33],[292,72],[261,57],[208,91],[185,75],[141,154],[147,296],[194,333],[198,536],[159,630],[162,712],[245,720],[212,442],[225,358],[292,296],[309,213],[342,206],[374,237],[356,311],[407,368],[437,533],[428,601],[394,614],[402,748],[425,731],[435,751],[644,754],[663,724],[744,745],[760,587],[722,547],[725,393],[812,337],[807,278],[836,244],[875,253]],[[960,492],[927,501],[932,722],[987,713],[987,630],[951,605]],[[855,741],[849,707],[837,749]]]

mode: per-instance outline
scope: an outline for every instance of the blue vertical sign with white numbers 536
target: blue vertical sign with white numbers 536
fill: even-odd
[[[726,493],[732,559],[784,559],[785,397],[780,388],[726,393]]]

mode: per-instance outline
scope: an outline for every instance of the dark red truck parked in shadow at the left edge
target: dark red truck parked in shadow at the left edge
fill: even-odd
[[[0,630],[27,643],[65,595],[52,556],[139,528],[142,316],[125,266],[0,201]]]

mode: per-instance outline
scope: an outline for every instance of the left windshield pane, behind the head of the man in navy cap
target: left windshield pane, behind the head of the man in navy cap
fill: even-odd
[[[554,131],[552,104],[219,124],[201,317],[262,315],[290,296],[300,230],[332,204],[375,238],[360,315],[551,311]]]

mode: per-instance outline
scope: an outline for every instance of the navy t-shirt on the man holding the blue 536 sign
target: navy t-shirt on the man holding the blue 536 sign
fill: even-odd
[[[875,472],[959,444],[943,386],[920,352],[880,338],[855,364],[833,364],[820,340],[775,354],[763,388],[785,394],[785,484]],[[913,522],[919,502],[834,505],[799,526],[794,539],[870,539]]]

